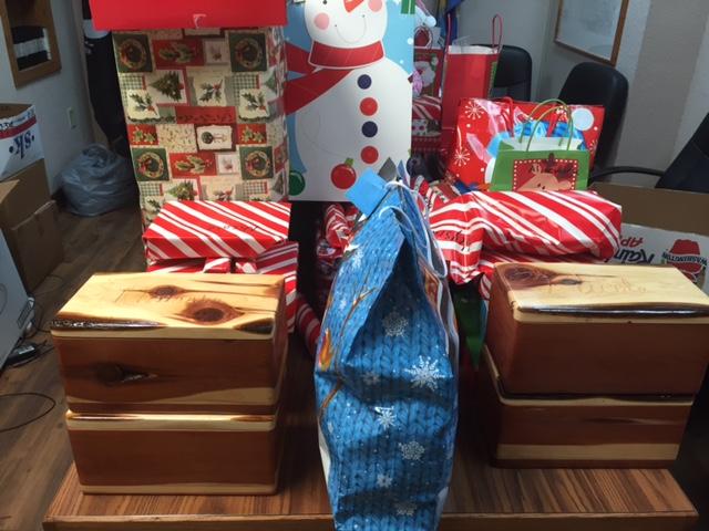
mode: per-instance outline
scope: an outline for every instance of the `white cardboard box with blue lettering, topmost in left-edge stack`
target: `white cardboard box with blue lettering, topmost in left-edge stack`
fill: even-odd
[[[0,104],[0,180],[44,156],[33,105]]]

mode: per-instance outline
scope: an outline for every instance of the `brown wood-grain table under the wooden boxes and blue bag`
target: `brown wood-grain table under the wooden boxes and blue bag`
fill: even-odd
[[[45,531],[332,529],[318,454],[311,363],[292,348],[281,488],[273,497],[84,496],[72,466]],[[504,470],[487,464],[474,423],[461,423],[441,531],[680,531],[697,512],[667,470]],[[188,464],[185,464],[188,466]]]

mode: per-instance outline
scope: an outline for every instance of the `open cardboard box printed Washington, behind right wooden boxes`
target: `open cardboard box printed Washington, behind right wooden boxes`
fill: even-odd
[[[616,263],[671,264],[709,293],[709,195],[596,183],[592,189],[623,207]]]

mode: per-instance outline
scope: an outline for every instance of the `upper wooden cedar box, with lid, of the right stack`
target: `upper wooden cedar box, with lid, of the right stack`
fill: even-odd
[[[709,298],[670,267],[502,264],[486,343],[508,393],[695,395]]]

